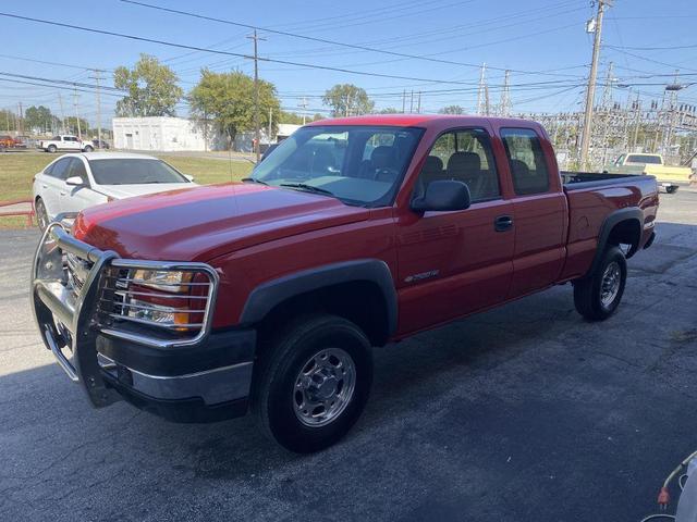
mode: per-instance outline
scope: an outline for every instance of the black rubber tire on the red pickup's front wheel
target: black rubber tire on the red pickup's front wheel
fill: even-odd
[[[304,393],[299,383],[303,377],[310,382],[314,376],[307,377],[309,371],[301,372],[308,368],[319,369],[318,365],[310,366],[310,361],[316,356],[326,355],[327,349],[350,357],[355,370],[353,393],[343,401],[345,406],[338,407],[335,417],[326,419],[327,424],[307,425],[307,422],[313,422],[313,411],[309,415],[303,415],[301,411],[296,413],[296,409],[302,410],[305,405],[298,399]],[[259,371],[255,374],[252,410],[271,439],[298,453],[319,451],[339,442],[360,417],[372,384],[370,343],[358,326],[335,315],[298,318],[282,328],[257,365]],[[328,389],[333,386],[339,390],[343,383],[343,380],[334,378]],[[346,386],[344,389],[350,389]],[[333,407],[334,402],[331,405]],[[316,419],[322,422],[321,407],[319,411]],[[305,421],[301,420],[302,415]]]

